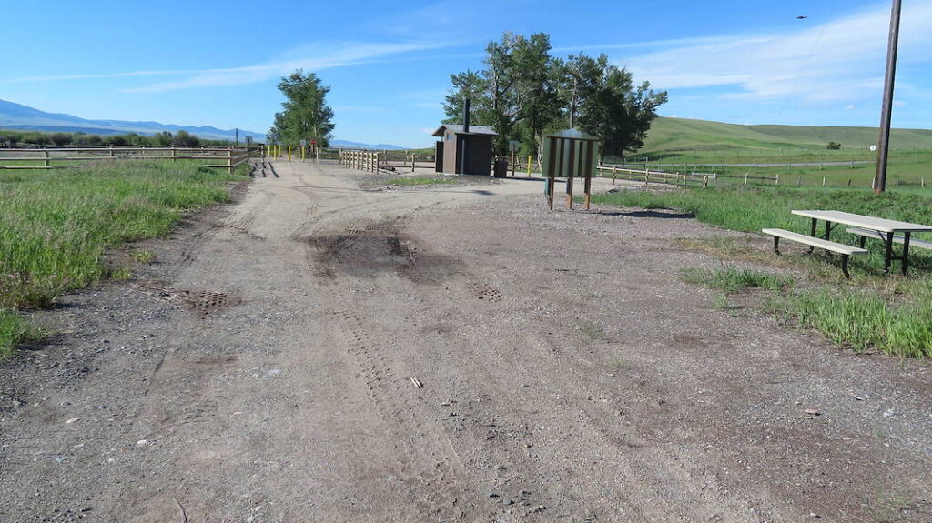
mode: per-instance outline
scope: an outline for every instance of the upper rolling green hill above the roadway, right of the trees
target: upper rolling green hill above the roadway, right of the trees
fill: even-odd
[[[876,127],[802,127],[802,126],[742,126],[706,120],[659,117],[637,154],[690,154],[721,152],[732,154],[771,153],[780,149],[823,149],[829,141],[842,144],[843,151],[867,152],[877,143]],[[932,149],[932,130],[894,129],[891,149]],[[770,150],[770,151],[765,151]],[[742,154],[743,155],[743,154]]]

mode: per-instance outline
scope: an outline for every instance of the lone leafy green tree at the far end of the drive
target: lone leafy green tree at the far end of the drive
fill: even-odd
[[[297,145],[301,140],[317,140],[318,145],[327,147],[334,124],[334,110],[326,103],[330,87],[322,86],[316,74],[305,74],[300,69],[287,78],[281,78],[279,90],[285,95],[281,103],[283,111],[275,114],[275,122],[269,130],[285,145]]]

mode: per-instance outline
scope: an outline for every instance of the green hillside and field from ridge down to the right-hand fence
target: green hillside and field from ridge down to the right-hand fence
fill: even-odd
[[[873,127],[740,126],[661,117],[637,154],[607,156],[606,163],[630,164],[670,172],[715,172],[743,178],[765,177],[781,184],[869,187],[877,154]],[[829,141],[842,144],[829,150]],[[888,185],[932,185],[932,130],[894,129],[887,167]],[[866,163],[865,163],[866,162]],[[788,166],[807,163],[807,166]],[[832,165],[832,164],[843,165]],[[736,167],[728,164],[780,164]],[[725,180],[724,182],[729,182]]]

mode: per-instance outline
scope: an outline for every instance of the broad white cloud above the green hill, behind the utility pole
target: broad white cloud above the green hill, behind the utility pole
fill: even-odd
[[[801,25],[811,20],[801,20]],[[627,60],[639,79],[661,89],[734,87],[731,99],[838,103],[872,96],[883,86],[890,11],[872,7],[822,26],[789,33],[734,35],[686,42]],[[932,2],[903,11],[900,62],[928,61]]]

